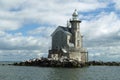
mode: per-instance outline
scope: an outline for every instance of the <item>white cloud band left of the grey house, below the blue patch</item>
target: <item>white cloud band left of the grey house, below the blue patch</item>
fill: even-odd
[[[45,37],[23,36],[21,33],[16,35],[5,32],[0,35],[1,50],[39,50],[46,53],[49,46],[49,41]],[[45,42],[44,42],[45,41]]]

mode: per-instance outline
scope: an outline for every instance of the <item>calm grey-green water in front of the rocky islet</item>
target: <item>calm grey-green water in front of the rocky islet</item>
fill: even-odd
[[[120,67],[43,68],[0,65],[0,80],[120,80]]]

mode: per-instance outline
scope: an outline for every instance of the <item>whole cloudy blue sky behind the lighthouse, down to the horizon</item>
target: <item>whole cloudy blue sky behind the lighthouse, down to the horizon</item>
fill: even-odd
[[[0,61],[47,56],[75,9],[89,60],[120,61],[120,0],[0,0]]]

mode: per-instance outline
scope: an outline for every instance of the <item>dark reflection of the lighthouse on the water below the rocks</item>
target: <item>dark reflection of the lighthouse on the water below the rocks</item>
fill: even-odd
[[[80,80],[82,75],[87,68],[53,68],[50,74],[50,79],[54,80]],[[56,77],[57,76],[57,77]],[[54,78],[56,77],[56,78]]]

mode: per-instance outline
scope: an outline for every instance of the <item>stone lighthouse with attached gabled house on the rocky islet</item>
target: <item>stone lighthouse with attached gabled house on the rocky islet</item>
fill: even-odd
[[[49,50],[48,58],[55,60],[69,58],[80,62],[88,61],[88,52],[82,45],[83,36],[80,33],[80,23],[78,13],[75,10],[66,27],[57,27],[51,35],[52,47]]]

